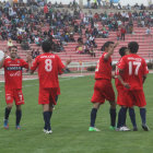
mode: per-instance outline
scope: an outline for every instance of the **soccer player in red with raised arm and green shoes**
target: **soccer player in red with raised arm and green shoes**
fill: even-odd
[[[110,104],[110,129],[115,130],[116,127],[116,103],[115,93],[111,85],[111,55],[114,54],[114,48],[117,46],[113,42],[107,42],[104,44],[104,52],[99,58],[99,61],[95,70],[95,85],[94,94],[91,102],[93,103],[93,108],[91,110],[91,125],[89,131],[99,131],[95,128],[95,120],[97,109],[105,99],[109,101]]]

